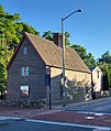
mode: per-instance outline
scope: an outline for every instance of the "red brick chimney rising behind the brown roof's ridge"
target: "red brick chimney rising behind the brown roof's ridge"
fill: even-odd
[[[53,39],[54,39],[54,43],[57,46],[63,47],[63,45],[62,45],[62,33],[54,33]]]

